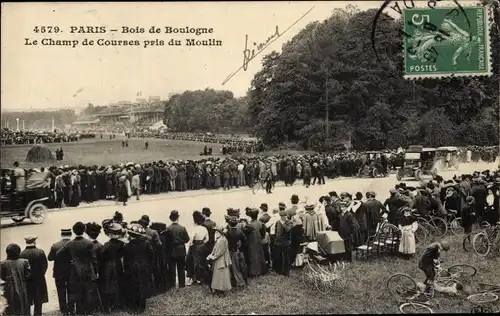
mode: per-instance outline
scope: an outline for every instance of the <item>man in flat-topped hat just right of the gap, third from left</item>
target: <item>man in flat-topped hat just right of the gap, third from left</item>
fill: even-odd
[[[72,308],[68,307],[68,282],[70,261],[64,258],[57,258],[56,253],[71,240],[71,229],[61,229],[61,240],[52,245],[49,252],[49,261],[54,261],[54,280],[59,299],[59,310],[67,315]],[[74,307],[73,307],[74,308]]]

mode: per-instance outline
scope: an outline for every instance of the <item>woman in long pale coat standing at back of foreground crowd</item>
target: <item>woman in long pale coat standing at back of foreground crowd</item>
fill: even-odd
[[[215,294],[230,291],[231,286],[231,256],[229,254],[228,241],[225,236],[226,228],[219,227],[215,230],[214,249],[208,255],[207,260],[212,266],[212,280],[210,288]]]

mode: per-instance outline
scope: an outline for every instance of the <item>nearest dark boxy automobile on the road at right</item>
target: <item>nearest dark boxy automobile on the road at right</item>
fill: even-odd
[[[420,181],[422,175],[437,175],[435,166],[436,149],[424,148],[423,146],[411,146],[404,156],[403,166],[396,172],[398,181],[403,178],[415,178]]]

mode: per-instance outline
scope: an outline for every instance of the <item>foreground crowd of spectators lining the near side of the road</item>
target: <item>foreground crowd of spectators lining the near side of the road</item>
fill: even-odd
[[[448,212],[457,212],[467,234],[476,221],[492,225],[499,221],[499,189],[500,170],[447,181],[436,176],[417,187],[400,183],[383,202],[375,192],[332,191],[315,204],[301,204],[292,195],[288,203],[276,207],[265,203],[259,209],[247,207],[245,216],[229,208],[223,225],[212,221],[210,209],[203,208],[192,219],[183,219],[194,222],[190,233],[180,224],[177,210],[170,213],[169,225],[151,222],[148,215],[127,223],[116,212],[101,224],[77,222],[72,229],[62,229],[62,239],[48,256],[36,247],[36,236],[25,238],[22,251],[17,244],[8,245],[7,259],[0,264],[7,314],[29,315],[31,305],[35,315],[42,314],[42,304],[48,301],[48,261],[54,261],[61,312],[89,315],[98,310],[143,312],[148,298],[176,286],[205,285],[223,295],[270,271],[289,276],[292,268],[301,266],[301,244],[315,241],[324,230],[338,232],[345,245],[343,259],[352,261],[352,252],[390,223],[399,228],[398,249],[408,258],[416,249],[415,213],[446,218]],[[102,231],[109,238],[104,244],[97,241]],[[433,243],[420,260],[426,292],[434,284],[439,252],[447,249],[446,241]]]

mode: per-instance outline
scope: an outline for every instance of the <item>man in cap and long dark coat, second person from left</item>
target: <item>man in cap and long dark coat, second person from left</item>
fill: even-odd
[[[26,248],[21,252],[19,258],[28,260],[31,267],[31,275],[26,280],[28,289],[28,301],[34,305],[35,316],[42,315],[42,305],[49,301],[47,292],[47,281],[45,273],[48,268],[48,261],[45,252],[36,247],[36,236],[27,236]]]

